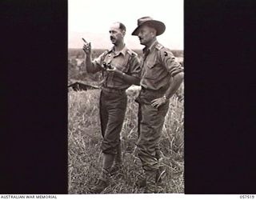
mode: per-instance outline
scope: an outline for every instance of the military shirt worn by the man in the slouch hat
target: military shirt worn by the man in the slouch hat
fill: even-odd
[[[183,71],[169,49],[155,41],[143,49],[141,86],[159,90],[170,84],[170,78]]]

